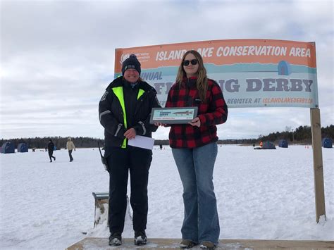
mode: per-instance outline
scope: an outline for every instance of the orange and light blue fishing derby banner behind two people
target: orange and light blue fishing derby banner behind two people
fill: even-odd
[[[115,77],[121,75],[122,62],[135,54],[142,79],[156,89],[164,106],[190,49],[202,55],[229,108],[318,107],[314,42],[235,39],[116,49]]]

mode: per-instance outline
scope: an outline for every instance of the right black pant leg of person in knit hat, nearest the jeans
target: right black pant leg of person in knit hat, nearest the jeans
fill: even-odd
[[[146,230],[148,197],[147,184],[152,151],[130,146],[130,204],[133,211],[133,230]]]

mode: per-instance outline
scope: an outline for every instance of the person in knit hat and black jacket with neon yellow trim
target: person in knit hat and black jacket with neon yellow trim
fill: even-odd
[[[147,182],[152,151],[129,146],[136,135],[151,137],[158,127],[149,123],[152,108],[160,107],[156,90],[140,78],[140,62],[130,55],[122,64],[123,77],[106,88],[99,102],[99,120],[104,127],[104,157],[109,165],[109,245],[122,244],[130,171],[130,204],[135,244],[147,242]]]

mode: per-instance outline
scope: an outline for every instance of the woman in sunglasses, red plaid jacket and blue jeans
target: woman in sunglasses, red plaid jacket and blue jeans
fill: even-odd
[[[202,56],[187,51],[166,108],[197,106],[197,117],[188,124],[171,125],[169,144],[183,183],[185,218],[181,248],[201,244],[214,249],[220,234],[213,173],[217,156],[217,127],[225,123],[228,107],[221,88],[206,77]]]

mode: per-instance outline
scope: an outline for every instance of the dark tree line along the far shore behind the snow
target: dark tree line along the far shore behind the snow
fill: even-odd
[[[321,137],[334,139],[334,125],[327,127],[321,127]],[[14,139],[1,139],[0,145],[4,142],[13,142],[15,147],[18,147],[20,143],[26,143],[27,146],[32,149],[45,149],[49,143],[49,139],[52,139],[57,149],[66,148],[66,142],[68,137],[35,137],[35,138],[14,138]],[[273,132],[269,135],[259,135],[258,138],[251,139],[223,139],[218,140],[218,144],[259,144],[259,142],[274,142],[278,143],[280,139],[286,139],[290,144],[311,144],[311,127],[299,126],[296,129],[291,127],[285,127],[283,132]],[[72,137],[72,141],[78,148],[95,148],[99,142],[100,146],[104,146],[104,139],[92,138],[92,137]],[[155,145],[168,145],[168,139],[156,139]]]

